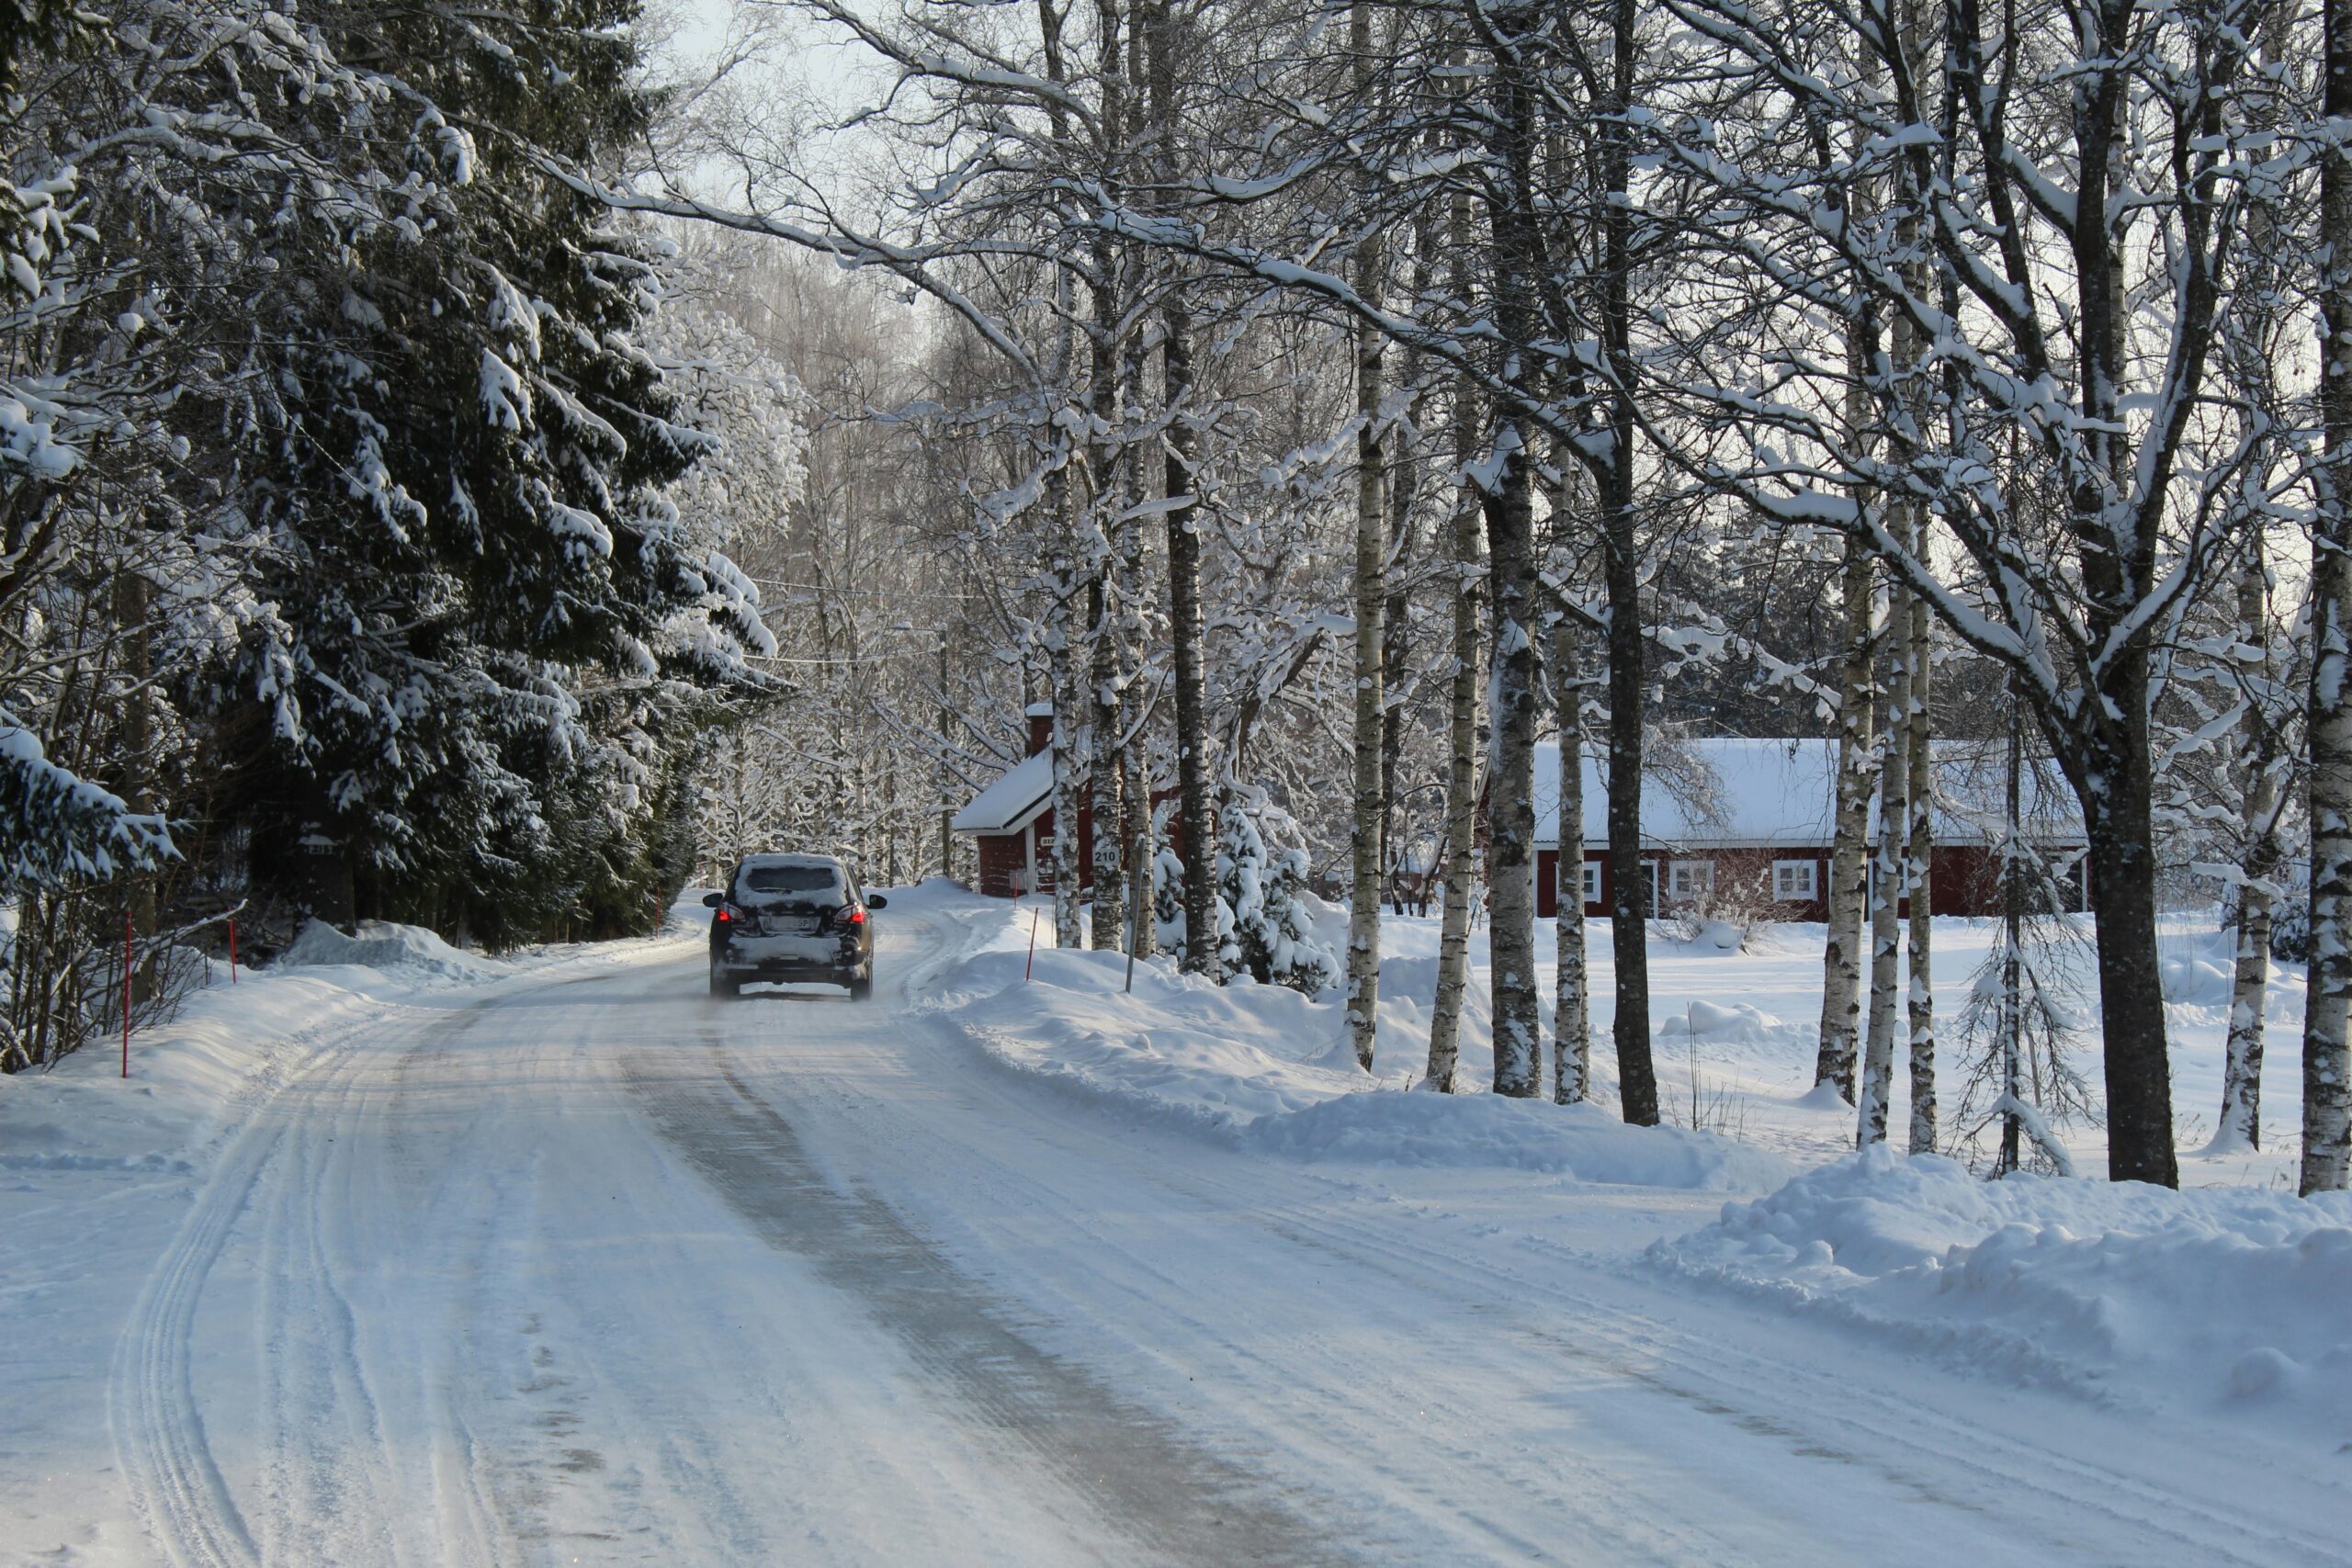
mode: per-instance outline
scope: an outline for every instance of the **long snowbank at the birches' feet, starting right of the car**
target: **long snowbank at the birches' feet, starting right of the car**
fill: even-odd
[[[950,893],[903,907],[953,933],[955,959],[917,976],[920,1006],[988,1060],[1117,1114],[1305,1161],[1517,1168],[1700,1192],[1764,1192],[1790,1173],[1783,1159],[1726,1138],[1630,1128],[1592,1105],[1406,1093],[1418,1058],[1399,1053],[1406,1065],[1359,1072],[1336,999],[1247,980],[1218,987],[1162,964],[1138,964],[1129,994],[1115,952],[1040,947],[1030,971],[1028,910],[1014,917],[1002,903]],[[901,910],[896,893],[891,910]],[[1430,957],[1381,966],[1383,1027],[1418,1023],[1390,1039],[1425,1037],[1432,985]],[[1489,1072],[1489,1037],[1475,992],[1463,1030],[1470,1084]]]

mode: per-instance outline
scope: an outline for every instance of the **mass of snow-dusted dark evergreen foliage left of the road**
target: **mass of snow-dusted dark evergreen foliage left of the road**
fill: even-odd
[[[684,879],[774,642],[699,482],[734,364],[548,172],[647,129],[635,9],[12,7],[0,875],[61,964],[125,903],[496,945]]]

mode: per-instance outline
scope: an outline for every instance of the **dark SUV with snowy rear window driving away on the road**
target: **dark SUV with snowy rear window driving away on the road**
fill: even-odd
[[[710,994],[741,997],[750,980],[830,980],[863,1001],[875,990],[875,929],[884,898],[833,856],[746,856],[710,905]]]

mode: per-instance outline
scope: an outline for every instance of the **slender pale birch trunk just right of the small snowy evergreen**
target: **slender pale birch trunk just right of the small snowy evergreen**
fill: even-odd
[[[1348,7],[1355,89],[1371,92],[1371,5]],[[1381,299],[1381,249],[1364,235],[1355,249],[1357,296]],[[1355,327],[1355,799],[1348,830],[1348,1039],[1371,1072],[1381,1011],[1381,567],[1388,524],[1388,454],[1381,444],[1381,334]]]

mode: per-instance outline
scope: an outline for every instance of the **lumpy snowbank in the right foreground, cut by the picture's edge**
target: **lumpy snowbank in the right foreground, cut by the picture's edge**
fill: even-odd
[[[1649,1258],[1978,1373],[2352,1439],[2347,1194],[1987,1182],[1882,1145]]]

